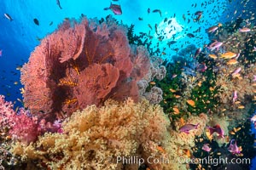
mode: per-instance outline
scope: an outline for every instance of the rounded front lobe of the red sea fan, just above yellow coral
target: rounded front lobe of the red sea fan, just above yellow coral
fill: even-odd
[[[110,64],[93,64],[81,71],[74,92],[79,107],[85,108],[87,105],[102,103],[118,80],[119,70]]]

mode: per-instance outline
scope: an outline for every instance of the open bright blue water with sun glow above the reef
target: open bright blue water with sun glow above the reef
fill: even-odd
[[[103,8],[109,7],[110,1],[60,0],[60,2],[62,9],[57,6],[55,0],[1,1],[0,50],[3,50],[3,54],[0,57],[0,94],[5,95],[7,100],[16,101],[15,105],[21,105],[17,99],[22,99],[20,94],[20,88],[22,86],[19,82],[20,71],[16,70],[16,68],[27,62],[33,49],[40,43],[38,39],[44,38],[47,34],[55,31],[57,26],[65,18],[79,20],[81,14],[84,14],[88,18],[97,17],[101,19],[105,18],[108,14],[113,14],[111,10],[103,10]],[[195,2],[197,3],[197,7],[191,7]],[[201,3],[205,3],[205,0],[119,0],[117,3],[121,5],[123,14],[115,15],[114,18],[128,26],[131,24],[135,25],[136,33],[148,33],[148,24],[150,24],[153,27],[151,32],[154,35],[154,42],[156,43],[158,41],[157,36],[154,34],[154,25],[157,24],[159,30],[163,30],[168,34],[169,30],[164,25],[163,20],[172,17],[173,25],[177,26],[177,31],[169,35],[171,38],[173,34],[177,34],[175,38],[177,43],[173,48],[181,49],[181,45],[185,42],[192,42],[196,48],[202,48],[210,42],[205,31],[208,27],[234,20],[233,17],[241,14],[241,10],[247,10],[239,6],[240,1],[238,0],[233,1],[233,3],[225,3],[224,0],[207,2],[210,4],[207,4],[206,8],[201,8]],[[255,0],[248,1],[248,4],[250,4],[248,6],[251,8],[253,3],[255,4]],[[151,9],[150,14],[147,12],[148,8]],[[237,8],[237,13],[234,15],[235,8]],[[154,9],[160,9],[162,17],[158,13],[152,13]],[[204,22],[199,24],[191,20],[188,24],[188,13],[192,15],[198,10],[203,10],[204,14],[201,20],[204,20]],[[215,12],[207,15],[211,11]],[[9,14],[13,18],[13,21],[8,20],[3,15],[5,13]],[[174,14],[176,15],[175,17],[173,17]],[[185,21],[183,20],[183,14],[187,17]],[[230,17],[227,17],[228,14]],[[143,18],[143,20],[138,20],[138,17]],[[33,22],[33,19],[38,19],[39,26]],[[52,25],[49,26],[51,22]],[[200,27],[202,39],[195,40],[186,36],[186,33],[189,31],[195,31]],[[186,29],[189,29],[189,31],[185,31]],[[160,48],[166,48],[166,42],[168,41],[170,40],[166,39],[160,42]],[[166,56],[163,56],[163,58],[172,60],[171,56],[175,54],[176,52],[172,49],[166,49]],[[15,84],[15,82],[18,82],[18,84]],[[256,161],[254,161],[254,167],[252,169],[256,169]]]

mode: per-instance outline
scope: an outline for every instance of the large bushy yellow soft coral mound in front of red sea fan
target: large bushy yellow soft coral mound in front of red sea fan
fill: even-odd
[[[139,164],[125,166],[118,157],[161,156],[157,147],[168,136],[169,123],[160,105],[148,100],[108,100],[100,108],[90,105],[74,112],[63,122],[63,133],[45,133],[28,146],[16,143],[13,152],[23,159],[40,159],[51,169],[137,169]]]

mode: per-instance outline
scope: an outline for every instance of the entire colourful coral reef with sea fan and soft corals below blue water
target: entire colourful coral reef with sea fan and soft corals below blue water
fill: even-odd
[[[214,169],[180,159],[252,158],[246,120],[255,110],[255,40],[254,30],[236,31],[241,25],[242,20],[232,28],[218,25],[209,37],[224,42],[220,48],[192,44],[167,62],[155,56],[159,43],[154,51],[150,32],[137,36],[133,25],[111,16],[64,21],[21,69],[27,109],[14,111],[0,96],[3,165]],[[181,130],[185,127],[189,130]],[[242,151],[233,155],[229,144],[235,140]],[[205,144],[211,150],[203,149]]]

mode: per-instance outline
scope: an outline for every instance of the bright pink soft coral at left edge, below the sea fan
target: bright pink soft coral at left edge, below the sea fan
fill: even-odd
[[[61,132],[61,123],[51,124],[44,119],[39,122],[30,111],[20,108],[16,113],[13,108],[12,102],[5,101],[0,95],[0,132],[8,132],[12,139],[29,144],[36,141],[41,133]]]

